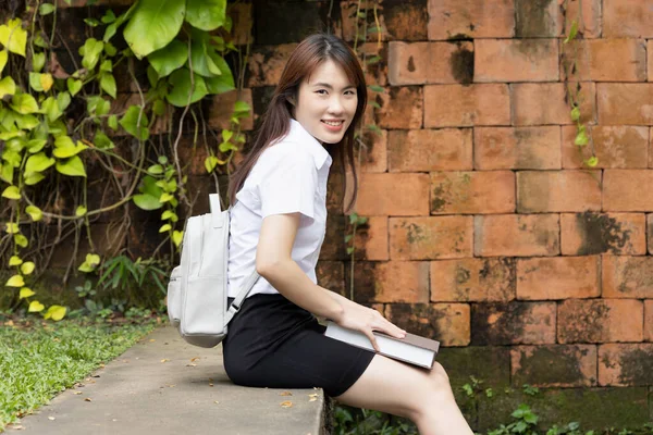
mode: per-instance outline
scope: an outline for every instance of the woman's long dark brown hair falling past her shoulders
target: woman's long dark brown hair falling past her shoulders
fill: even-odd
[[[354,120],[345,132],[343,139],[333,146],[335,148],[334,153],[340,154],[341,158],[343,203],[345,201],[344,194],[347,189],[345,154],[347,157],[347,162],[352,167],[354,191],[346,211],[352,209],[353,204],[356,202],[358,191],[358,177],[356,176],[356,165],[354,164],[354,135],[367,105],[367,86],[360,63],[354,51],[338,37],[326,34],[309,36],[304,39],[291,54],[291,58],[281,74],[279,85],[276,85],[276,89],[274,89],[272,100],[262,116],[261,125],[256,134],[254,145],[251,146],[249,153],[243,159],[238,169],[234,171],[231,176],[229,186],[230,203],[235,203],[236,194],[245,184],[245,179],[263,150],[270,144],[288,133],[291,119],[293,117],[293,107],[288,100],[297,99],[301,82],[308,77],[318,65],[326,60],[335,62],[345,71],[349,80],[356,86],[356,94],[358,96]]]

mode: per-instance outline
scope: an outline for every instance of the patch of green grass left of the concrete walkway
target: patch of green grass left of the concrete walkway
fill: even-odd
[[[155,325],[151,320],[19,322],[0,315],[0,432],[124,352]]]

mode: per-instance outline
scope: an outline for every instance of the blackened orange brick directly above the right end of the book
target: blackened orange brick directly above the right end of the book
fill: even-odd
[[[442,346],[467,346],[470,336],[469,311],[467,303],[391,303],[385,314],[401,328],[435,339]]]

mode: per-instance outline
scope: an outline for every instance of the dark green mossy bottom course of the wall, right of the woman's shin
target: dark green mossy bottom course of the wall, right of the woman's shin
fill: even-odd
[[[646,387],[551,388],[534,396],[516,390],[481,397],[476,431],[489,431],[514,421],[510,417],[526,403],[540,420],[538,427],[549,428],[579,422],[582,431],[605,427],[641,427],[650,421]],[[583,432],[584,433],[584,432]]]

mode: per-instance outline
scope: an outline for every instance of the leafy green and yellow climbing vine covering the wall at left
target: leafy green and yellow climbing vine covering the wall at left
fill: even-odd
[[[87,29],[96,35],[103,29],[103,37],[87,38],[79,58],[57,27],[56,2],[26,5],[22,16],[0,25],[0,259],[9,257],[13,274],[5,286],[17,291],[16,299],[29,312],[61,320],[65,308],[45,310],[30,288],[54,248],[74,238],[65,281],[85,233],[88,252],[77,269],[93,274],[102,264],[93,223],[122,210],[113,232],[126,232],[131,217],[124,206],[133,203],[160,212],[163,238],[155,254],[168,246],[174,256],[183,238],[178,207],[192,213],[195,201],[186,188],[189,162],[180,158],[182,132],[193,132],[193,151],[205,146],[205,169],[217,181],[245,142],[239,121],[250,108],[237,101],[230,128],[219,134],[207,133],[197,108],[206,96],[236,89],[225,61],[238,51],[231,41],[226,0],[137,0],[120,14],[108,10],[99,20],[88,17]],[[72,72],[59,62],[63,50]],[[137,91],[126,104],[118,101],[114,71],[121,65]],[[147,85],[136,77],[138,69],[146,71]],[[91,207],[89,187],[115,200]]]

